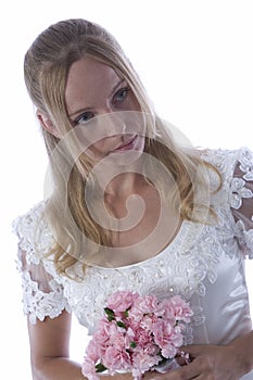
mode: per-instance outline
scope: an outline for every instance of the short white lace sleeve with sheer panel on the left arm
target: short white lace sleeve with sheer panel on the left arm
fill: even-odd
[[[48,269],[49,263],[45,265],[45,253],[52,246],[53,238],[42,215],[40,203],[13,223],[18,238],[17,270],[22,279],[23,309],[31,324],[36,324],[37,318],[55,318],[63,309],[71,312],[61,279],[53,275],[53,264],[52,270]]]

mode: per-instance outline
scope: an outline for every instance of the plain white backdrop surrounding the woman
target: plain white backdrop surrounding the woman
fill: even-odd
[[[47,157],[23,83],[25,51],[51,23],[69,17],[100,23],[125,48],[161,116],[193,144],[253,149],[253,2],[23,0],[1,8],[1,371],[28,380],[10,226],[41,200]],[[250,287],[252,300],[251,279]],[[74,357],[81,360],[85,344],[86,333],[76,325]]]

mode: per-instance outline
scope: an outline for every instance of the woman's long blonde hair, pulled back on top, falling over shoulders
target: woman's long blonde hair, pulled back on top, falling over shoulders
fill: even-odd
[[[208,187],[203,172],[198,175],[198,168],[203,166],[200,154],[174,141],[166,123],[156,115],[128,58],[103,27],[81,18],[66,20],[51,25],[37,37],[24,61],[25,84],[37,110],[49,117],[63,135],[71,131],[73,127],[65,105],[67,74],[72,64],[86,55],[102,61],[125,78],[141,112],[152,115],[152,121],[148,117],[147,122],[144,152],[157,159],[173,175],[180,194],[181,218],[200,221],[201,217],[193,215],[194,190],[197,186],[201,189]],[[110,245],[110,236],[94,221],[84,202],[86,187],[92,189],[96,181],[94,178],[88,179],[91,163],[81,154],[73,164],[71,147],[61,145],[55,136],[45,128],[41,130],[54,183],[53,192],[46,203],[46,214],[56,237],[50,254],[53,255],[58,271],[66,274],[80,259],[84,248],[89,250],[90,241],[98,246],[106,246]],[[53,154],[55,151],[56,155]],[[211,167],[205,163],[204,166]],[[152,163],[149,170],[154,173]],[[164,186],[161,176],[157,176],[156,181]],[[166,191],[164,193],[166,198]],[[94,208],[96,204],[94,199]],[[212,211],[210,206],[208,211]],[[66,216],[68,212],[71,218]]]

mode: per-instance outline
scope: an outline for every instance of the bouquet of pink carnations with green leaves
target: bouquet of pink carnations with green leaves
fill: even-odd
[[[154,295],[113,293],[104,317],[86,349],[81,371],[99,380],[107,371],[131,372],[135,379],[174,358],[184,343],[192,311],[179,295],[159,302]]]

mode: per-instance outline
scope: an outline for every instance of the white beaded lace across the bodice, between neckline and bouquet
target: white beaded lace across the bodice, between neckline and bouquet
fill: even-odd
[[[219,253],[220,245],[210,227],[184,223],[175,243],[160,255],[129,267],[88,268],[81,283],[72,281],[66,286],[65,295],[80,324],[92,333],[107,296],[116,290],[155,294],[160,300],[175,294],[186,300],[193,294],[204,296],[205,279],[211,283],[216,280]],[[203,324],[202,311],[195,307],[194,312],[191,326]],[[189,342],[190,335],[189,330]]]

